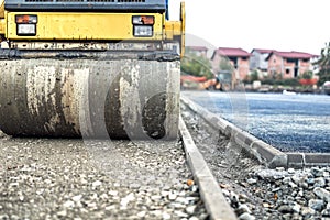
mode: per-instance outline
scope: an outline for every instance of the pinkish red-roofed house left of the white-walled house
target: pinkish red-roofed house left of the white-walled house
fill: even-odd
[[[215,73],[220,73],[221,61],[228,61],[232,68],[232,87],[238,80],[243,80],[249,75],[251,54],[242,48],[219,47],[211,57]]]

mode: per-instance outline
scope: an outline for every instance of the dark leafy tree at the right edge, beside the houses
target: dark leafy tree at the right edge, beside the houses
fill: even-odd
[[[321,86],[324,81],[330,81],[330,43],[326,44],[326,47],[321,50],[321,56],[316,64],[320,68],[318,85]]]

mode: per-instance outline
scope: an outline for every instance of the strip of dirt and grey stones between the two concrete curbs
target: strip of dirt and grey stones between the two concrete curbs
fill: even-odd
[[[330,219],[330,168],[268,169],[182,107],[191,135],[239,219]]]

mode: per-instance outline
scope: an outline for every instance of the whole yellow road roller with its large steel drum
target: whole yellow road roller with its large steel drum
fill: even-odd
[[[13,136],[173,140],[185,3],[2,0],[0,130]]]

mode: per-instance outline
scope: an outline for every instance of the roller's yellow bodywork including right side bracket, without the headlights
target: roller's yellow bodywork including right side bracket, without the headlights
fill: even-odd
[[[18,35],[16,15],[37,18],[35,35]],[[153,35],[136,37],[133,16],[153,16]],[[180,21],[168,21],[165,13],[133,12],[14,12],[0,6],[0,35],[2,41],[173,41],[179,40],[180,55],[185,52],[185,3],[182,2]]]

